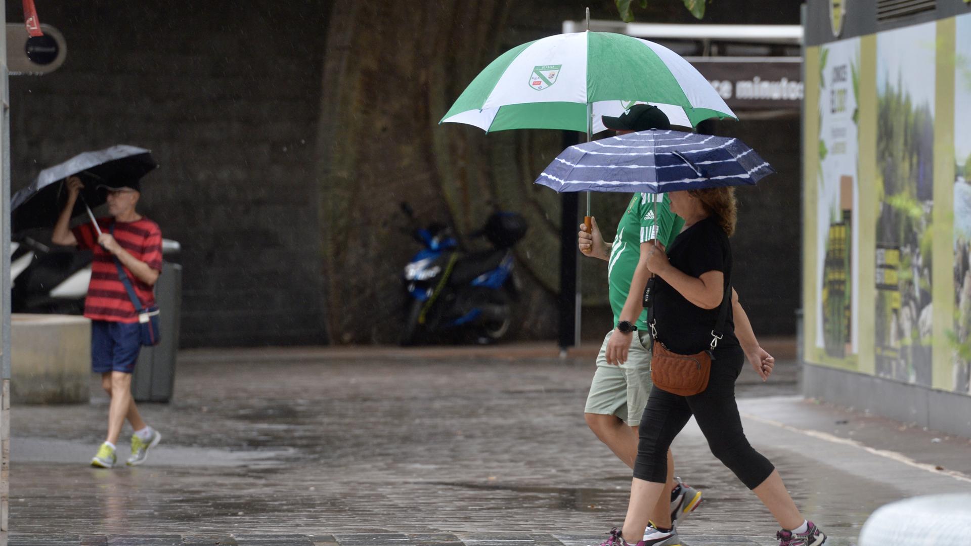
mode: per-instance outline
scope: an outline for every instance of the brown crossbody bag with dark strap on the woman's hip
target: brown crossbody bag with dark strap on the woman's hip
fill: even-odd
[[[691,396],[700,394],[708,389],[708,378],[712,373],[712,360],[715,359],[715,348],[724,331],[725,321],[728,320],[728,308],[731,305],[731,256],[728,257],[728,273],[725,275],[725,291],[721,298],[719,322],[712,330],[712,343],[709,349],[694,355],[679,355],[664,346],[657,339],[657,330],[651,321],[651,335],[653,348],[651,357],[651,380],[661,391]],[[653,316],[653,310],[652,310]]]

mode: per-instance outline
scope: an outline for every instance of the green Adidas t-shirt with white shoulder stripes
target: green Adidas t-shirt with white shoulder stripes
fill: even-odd
[[[656,207],[658,222],[654,222],[655,198],[660,198]],[[667,193],[635,193],[620,218],[607,266],[610,306],[614,310],[615,326],[620,321],[620,312],[627,301],[634,270],[641,259],[641,243],[657,239],[665,249],[669,249],[685,225],[681,217],[671,212],[670,205],[671,199]],[[647,329],[647,321],[648,311],[645,309],[637,320],[638,329]]]

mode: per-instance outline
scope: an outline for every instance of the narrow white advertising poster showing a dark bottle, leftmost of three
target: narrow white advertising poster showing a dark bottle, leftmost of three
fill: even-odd
[[[829,358],[856,353],[859,317],[859,40],[820,48],[820,170],[817,207],[817,346]]]

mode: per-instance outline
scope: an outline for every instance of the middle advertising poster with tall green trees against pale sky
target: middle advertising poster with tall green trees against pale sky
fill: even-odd
[[[877,36],[876,371],[931,386],[936,23]]]

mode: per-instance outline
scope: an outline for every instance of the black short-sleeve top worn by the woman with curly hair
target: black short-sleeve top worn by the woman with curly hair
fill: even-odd
[[[708,217],[686,227],[667,249],[667,255],[671,265],[691,277],[700,278],[709,271],[725,273],[730,264],[731,245],[718,220]],[[656,320],[657,339],[681,355],[693,355],[708,349],[712,342],[712,330],[719,320],[720,307],[702,309],[659,277],[655,284],[653,319]],[[721,333],[723,337],[719,341],[719,349],[738,347],[730,305],[728,319]]]

